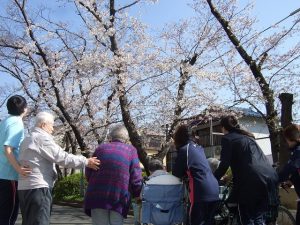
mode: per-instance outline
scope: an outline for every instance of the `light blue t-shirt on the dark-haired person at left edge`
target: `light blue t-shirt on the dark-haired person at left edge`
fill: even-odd
[[[22,117],[9,116],[0,122],[0,179],[18,180],[18,173],[9,163],[4,146],[13,148],[16,159],[19,158],[19,146],[24,139],[24,125]]]

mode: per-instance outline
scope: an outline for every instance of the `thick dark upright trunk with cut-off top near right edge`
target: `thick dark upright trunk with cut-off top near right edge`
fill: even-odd
[[[291,124],[293,121],[292,107],[293,107],[293,94],[282,93],[279,95],[281,102],[281,127],[284,128]],[[283,136],[280,137],[280,151],[279,151],[279,166],[282,167],[289,158],[288,145]]]

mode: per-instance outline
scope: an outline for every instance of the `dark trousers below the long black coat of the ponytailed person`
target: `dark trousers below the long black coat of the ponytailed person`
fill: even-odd
[[[264,225],[264,215],[267,212],[266,202],[257,201],[256,204],[239,204],[238,206],[241,224]]]

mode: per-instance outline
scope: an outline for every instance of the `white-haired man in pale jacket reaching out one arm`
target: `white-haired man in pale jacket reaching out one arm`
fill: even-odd
[[[20,163],[32,169],[28,176],[19,177],[22,225],[49,225],[51,192],[57,177],[55,163],[68,168],[99,169],[100,161],[96,157],[87,159],[82,155],[68,154],[58,146],[51,135],[53,125],[52,114],[38,113],[34,129],[21,144]]]

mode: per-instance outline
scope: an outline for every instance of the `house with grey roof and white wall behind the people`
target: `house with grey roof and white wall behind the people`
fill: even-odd
[[[204,147],[206,157],[220,157],[223,135],[220,119],[225,115],[236,115],[239,118],[240,125],[254,134],[258,145],[272,164],[268,127],[262,115],[251,108],[212,108],[185,120],[185,123],[191,127],[193,135],[196,136],[198,144]],[[167,155],[168,170],[172,169],[175,158],[176,151],[170,149]]]

